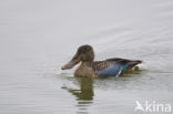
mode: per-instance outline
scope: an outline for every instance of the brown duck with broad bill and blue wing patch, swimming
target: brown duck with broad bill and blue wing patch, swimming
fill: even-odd
[[[61,69],[69,70],[79,64],[74,71],[74,76],[81,77],[108,77],[122,76],[142,63],[141,60],[129,60],[121,58],[112,58],[103,61],[94,61],[93,48],[84,44],[78,48],[73,58]]]

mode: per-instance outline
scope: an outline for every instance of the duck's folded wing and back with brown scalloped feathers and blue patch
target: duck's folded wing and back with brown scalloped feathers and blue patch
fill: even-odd
[[[142,61],[126,60],[126,59],[108,59],[105,61],[94,62],[94,68],[98,71],[99,76],[119,76],[126,71],[130,71],[133,66]]]

